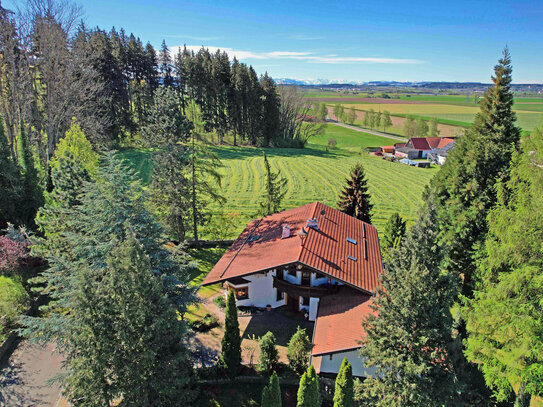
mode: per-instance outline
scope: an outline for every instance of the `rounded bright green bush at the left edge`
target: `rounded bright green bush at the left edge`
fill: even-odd
[[[0,276],[0,341],[15,327],[28,306],[28,294],[17,278]]]

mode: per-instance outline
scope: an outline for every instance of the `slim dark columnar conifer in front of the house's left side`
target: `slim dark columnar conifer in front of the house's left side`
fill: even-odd
[[[221,362],[228,375],[234,378],[241,363],[241,337],[239,334],[236,297],[233,290],[228,293],[225,315],[224,336],[221,341]]]

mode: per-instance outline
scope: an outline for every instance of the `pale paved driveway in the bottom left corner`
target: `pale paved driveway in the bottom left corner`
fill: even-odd
[[[21,341],[0,366],[0,407],[56,407],[60,388],[48,380],[62,372],[62,356],[55,345]]]

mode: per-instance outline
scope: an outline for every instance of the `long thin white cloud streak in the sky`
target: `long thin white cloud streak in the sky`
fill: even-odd
[[[201,45],[187,45],[190,51],[198,52],[202,48]],[[375,58],[375,57],[340,57],[336,54],[331,55],[315,55],[312,52],[297,52],[297,51],[271,51],[271,52],[253,52],[247,50],[239,50],[229,47],[205,46],[209,52],[214,53],[217,50],[226,52],[230,58],[236,57],[239,60],[246,59],[294,59],[298,61],[307,61],[311,63],[321,64],[422,64],[424,61],[418,59],[402,59],[402,58]],[[171,47],[170,51],[176,54],[183,46]]]

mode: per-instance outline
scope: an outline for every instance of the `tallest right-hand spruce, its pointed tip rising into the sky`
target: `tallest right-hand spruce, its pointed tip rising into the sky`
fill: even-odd
[[[445,266],[462,276],[462,292],[468,297],[477,279],[477,252],[485,240],[486,216],[496,202],[496,181],[507,177],[520,137],[511,74],[506,48],[473,126],[457,139],[430,187],[436,198],[440,243],[448,249]]]

